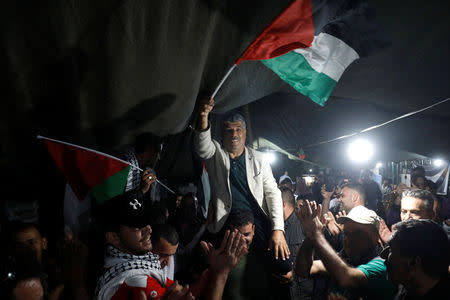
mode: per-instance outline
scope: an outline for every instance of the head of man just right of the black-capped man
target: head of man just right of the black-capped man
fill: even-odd
[[[165,268],[177,252],[178,233],[168,224],[156,225],[152,229],[152,252],[159,256],[161,268]]]

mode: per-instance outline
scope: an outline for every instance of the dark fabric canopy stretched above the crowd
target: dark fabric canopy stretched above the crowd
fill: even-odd
[[[289,3],[264,1],[13,1],[0,10],[3,182],[52,174],[37,134],[111,152],[139,132],[174,135],[159,167],[188,176],[195,104],[210,95],[251,41]],[[371,1],[389,48],[357,60],[325,107],[262,63],[243,62],[215,113],[249,104],[254,137],[323,165],[346,161],[359,131],[450,96],[448,1]],[[260,100],[261,99],[261,100]],[[256,101],[259,100],[259,101]],[[399,151],[450,158],[450,103],[367,135],[381,160]],[[345,152],[345,151],[344,151]],[[24,170],[29,170],[25,172]],[[45,176],[44,176],[45,178]],[[38,178],[39,188],[46,179]]]

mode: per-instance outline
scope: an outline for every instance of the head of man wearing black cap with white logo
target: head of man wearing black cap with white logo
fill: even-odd
[[[102,207],[106,242],[118,250],[142,255],[152,249],[152,228],[144,204],[130,195],[119,195]]]

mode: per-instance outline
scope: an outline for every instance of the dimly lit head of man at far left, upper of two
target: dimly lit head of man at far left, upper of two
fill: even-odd
[[[47,239],[41,235],[37,225],[13,222],[8,227],[12,252],[33,255],[41,264],[42,254],[47,249]]]

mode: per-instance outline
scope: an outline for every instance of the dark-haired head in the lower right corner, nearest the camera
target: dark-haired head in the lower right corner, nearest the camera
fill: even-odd
[[[450,245],[445,231],[432,220],[409,219],[395,225],[396,231],[381,253],[389,280],[406,289],[417,288],[425,277],[446,276]]]

